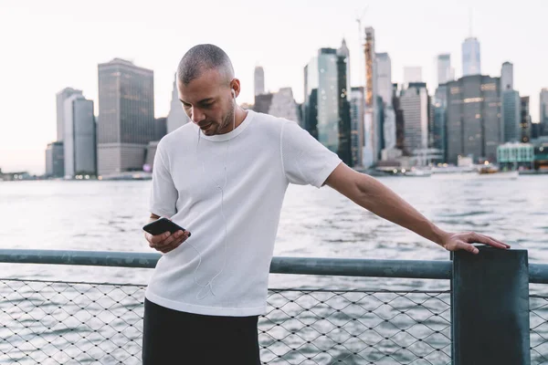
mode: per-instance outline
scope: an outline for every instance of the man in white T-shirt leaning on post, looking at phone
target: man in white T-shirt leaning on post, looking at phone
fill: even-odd
[[[510,247],[486,235],[439,229],[297,123],[240,109],[240,82],[219,47],[191,48],[179,64],[177,87],[192,123],[158,144],[151,222],[166,216],[186,230],[145,234],[163,256],[145,295],[144,365],[260,363],[258,315],[266,309],[289,183],[327,184],[449,251],[477,254],[473,242]]]

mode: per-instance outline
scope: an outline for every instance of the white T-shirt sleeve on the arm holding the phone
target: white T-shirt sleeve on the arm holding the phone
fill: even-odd
[[[163,155],[162,143],[158,143],[153,165],[153,187],[150,196],[151,213],[172,217],[177,213],[177,189],[174,185],[169,163]]]

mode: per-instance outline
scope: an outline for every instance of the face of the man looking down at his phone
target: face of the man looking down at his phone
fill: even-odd
[[[227,133],[234,119],[230,81],[216,70],[206,70],[188,85],[177,80],[184,112],[207,136]]]

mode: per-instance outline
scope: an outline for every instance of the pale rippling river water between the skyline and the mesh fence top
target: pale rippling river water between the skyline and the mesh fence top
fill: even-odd
[[[548,263],[548,176],[380,180],[446,230],[493,235],[528,249],[531,262]],[[0,183],[0,247],[152,252],[141,230],[149,215],[150,186],[142,181]],[[329,187],[296,185],[290,185],[286,194],[275,255],[448,259],[437,245],[365,211]],[[4,276],[12,277],[70,275],[133,283],[146,283],[151,274],[148,269],[91,266],[3,267],[9,267]],[[271,280],[273,285],[284,284],[278,276]]]

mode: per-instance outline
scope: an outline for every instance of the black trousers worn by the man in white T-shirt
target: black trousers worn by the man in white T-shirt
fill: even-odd
[[[142,365],[260,365],[258,316],[203,316],[144,299]]]

